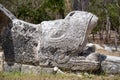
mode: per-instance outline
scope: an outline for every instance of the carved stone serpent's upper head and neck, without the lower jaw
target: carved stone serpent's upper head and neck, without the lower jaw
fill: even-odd
[[[72,11],[64,19],[31,24],[17,19],[0,5],[0,28],[5,28],[1,31],[5,60],[72,68],[71,58],[82,52],[97,20],[92,13]]]

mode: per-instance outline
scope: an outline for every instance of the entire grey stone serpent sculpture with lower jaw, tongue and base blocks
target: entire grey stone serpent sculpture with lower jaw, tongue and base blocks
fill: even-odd
[[[64,19],[31,24],[17,19],[0,5],[4,71],[54,72],[56,66],[62,70],[96,71],[101,68],[108,73],[120,73],[119,57],[103,56],[93,47],[83,50],[97,20],[92,13],[72,11]]]

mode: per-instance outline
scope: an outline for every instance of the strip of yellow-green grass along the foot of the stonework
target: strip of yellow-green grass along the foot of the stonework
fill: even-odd
[[[21,74],[19,72],[0,72],[0,80],[120,80],[120,75],[92,75],[92,74]]]

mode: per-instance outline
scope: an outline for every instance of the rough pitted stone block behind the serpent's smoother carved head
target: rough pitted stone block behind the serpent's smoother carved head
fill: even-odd
[[[13,20],[11,34],[15,62],[38,64],[40,47],[38,26],[15,19]]]

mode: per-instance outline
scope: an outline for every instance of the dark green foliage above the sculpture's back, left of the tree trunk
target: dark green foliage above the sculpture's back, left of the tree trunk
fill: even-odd
[[[0,0],[19,19],[40,23],[64,18],[64,0]]]

